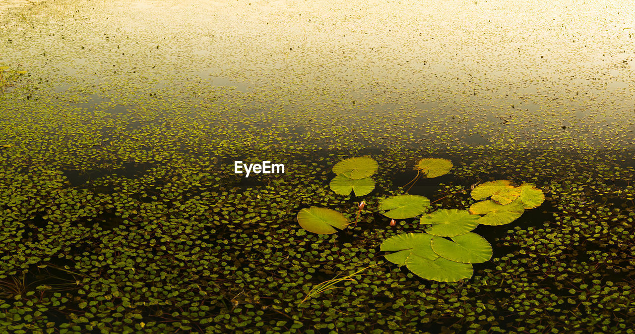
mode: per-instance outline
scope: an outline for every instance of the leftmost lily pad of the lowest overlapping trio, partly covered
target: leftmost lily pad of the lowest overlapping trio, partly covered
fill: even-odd
[[[414,250],[421,252],[422,256],[425,254],[431,260],[439,257],[430,246],[431,240],[432,236],[427,233],[399,234],[384,240],[379,249],[385,251],[397,250],[398,252],[386,254],[384,257],[394,264],[403,266],[406,264],[406,259],[410,256],[410,253]]]

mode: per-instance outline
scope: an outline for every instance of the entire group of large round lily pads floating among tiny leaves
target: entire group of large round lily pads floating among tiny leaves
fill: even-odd
[[[333,167],[337,176],[330,188],[338,195],[366,195],[375,188],[370,176],[378,164],[370,157],[349,158]],[[452,168],[450,160],[423,158],[417,162],[417,177],[446,174]],[[416,179],[416,177],[415,177]],[[514,186],[511,181],[498,180],[472,188],[471,196],[480,202],[469,210],[441,209],[420,217],[427,226],[422,233],[405,233],[385,240],[380,250],[392,252],[385,259],[406,266],[418,276],[434,281],[458,281],[472,277],[472,264],[491,259],[492,248],[485,238],[472,231],[479,224],[503,225],[518,219],[526,209],[533,209],[545,200],[542,190],[533,184]],[[363,202],[364,203],[364,202]],[[396,195],[379,201],[378,210],[391,219],[408,219],[424,214],[430,200],[419,195]],[[360,204],[359,210],[363,209]],[[298,223],[307,231],[331,234],[351,224],[344,215],[332,209],[310,207],[298,213]]]

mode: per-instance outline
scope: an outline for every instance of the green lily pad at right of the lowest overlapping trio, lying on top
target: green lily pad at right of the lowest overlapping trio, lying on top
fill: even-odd
[[[491,245],[476,233],[452,237],[452,241],[440,236],[432,238],[432,250],[440,257],[461,263],[479,263],[491,259]]]

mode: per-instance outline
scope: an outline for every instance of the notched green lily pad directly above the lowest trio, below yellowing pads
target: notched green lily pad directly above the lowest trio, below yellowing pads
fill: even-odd
[[[421,217],[422,224],[432,224],[425,232],[436,236],[457,236],[478,226],[479,217],[467,210],[443,209]]]

